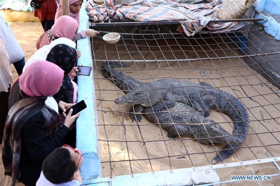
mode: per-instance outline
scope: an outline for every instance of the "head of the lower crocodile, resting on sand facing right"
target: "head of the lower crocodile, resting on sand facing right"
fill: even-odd
[[[194,121],[197,120],[197,121]],[[212,143],[221,143],[221,144],[231,144],[231,145],[240,145],[242,144],[242,140],[239,137],[231,135],[228,131],[226,131],[222,126],[217,124],[211,119],[206,119],[204,117],[193,117],[193,123],[206,123],[203,125],[198,125],[200,128],[200,134],[198,136],[202,138],[210,137]],[[207,124],[209,123],[209,124]],[[203,127],[203,128],[202,128]],[[205,127],[205,128],[204,128]],[[206,130],[205,130],[206,129]],[[208,136],[209,135],[209,136]],[[225,136],[231,135],[231,136]],[[209,139],[198,139],[202,144],[210,144]]]

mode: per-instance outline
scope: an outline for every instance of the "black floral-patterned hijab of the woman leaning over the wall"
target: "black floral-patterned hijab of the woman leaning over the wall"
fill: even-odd
[[[64,70],[64,78],[62,86],[57,94],[53,95],[54,99],[73,103],[74,87],[68,73],[73,69],[77,59],[77,51],[75,48],[65,44],[55,45],[47,56],[47,61],[58,65]]]

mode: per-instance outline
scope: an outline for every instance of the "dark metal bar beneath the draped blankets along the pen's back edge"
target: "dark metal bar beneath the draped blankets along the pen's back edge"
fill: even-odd
[[[210,20],[209,23],[227,23],[227,22],[244,22],[244,21],[263,21],[264,18],[253,19],[228,19],[228,20]],[[133,20],[110,20],[110,23],[91,23],[90,26],[136,26],[136,25],[163,25],[163,24],[180,24],[180,21],[133,21]],[[184,21],[184,20],[182,20]]]

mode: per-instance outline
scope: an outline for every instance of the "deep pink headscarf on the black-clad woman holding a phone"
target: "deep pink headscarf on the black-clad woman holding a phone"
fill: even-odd
[[[19,77],[19,87],[27,95],[51,96],[56,93],[64,77],[64,71],[56,64],[35,60]]]

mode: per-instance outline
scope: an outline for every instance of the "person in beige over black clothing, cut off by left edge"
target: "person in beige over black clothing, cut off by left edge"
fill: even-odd
[[[0,39],[0,143],[2,143],[4,126],[8,114],[8,100],[12,82],[10,59],[5,50],[5,44],[2,39]]]

